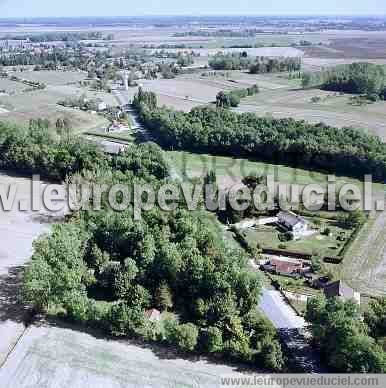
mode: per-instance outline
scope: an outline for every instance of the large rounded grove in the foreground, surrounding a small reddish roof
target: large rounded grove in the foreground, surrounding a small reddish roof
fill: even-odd
[[[257,313],[261,281],[241,251],[187,211],[82,213],[35,244],[25,294],[36,308],[119,336],[280,369],[276,331]],[[145,312],[164,312],[149,321]]]

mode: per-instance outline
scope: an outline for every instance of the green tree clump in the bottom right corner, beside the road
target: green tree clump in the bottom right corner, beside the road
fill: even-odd
[[[382,347],[368,335],[359,306],[336,298],[310,299],[306,319],[327,365],[341,373],[385,373]]]

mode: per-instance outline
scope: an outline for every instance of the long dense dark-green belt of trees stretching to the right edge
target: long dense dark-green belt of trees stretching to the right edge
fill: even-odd
[[[386,179],[386,145],[364,131],[212,107],[194,108],[189,113],[154,109],[154,99],[148,106],[137,97],[136,106],[142,120],[166,147]]]

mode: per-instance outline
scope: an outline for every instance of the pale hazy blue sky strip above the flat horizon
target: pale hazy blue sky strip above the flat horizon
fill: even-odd
[[[14,16],[386,14],[386,0],[0,0]]]

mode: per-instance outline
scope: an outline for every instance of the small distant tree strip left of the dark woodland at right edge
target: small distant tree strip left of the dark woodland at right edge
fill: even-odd
[[[245,70],[251,74],[299,71],[301,58],[269,58],[248,56],[246,51],[240,53],[217,53],[209,59],[209,66],[214,70]]]

